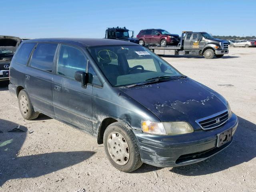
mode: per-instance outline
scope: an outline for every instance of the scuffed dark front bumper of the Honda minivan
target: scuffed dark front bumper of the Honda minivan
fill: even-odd
[[[157,167],[175,167],[203,161],[227,146],[233,140],[238,118],[232,114],[223,126],[213,130],[196,130],[190,134],[159,136],[134,130],[142,162]],[[232,128],[230,142],[217,147],[217,134]]]

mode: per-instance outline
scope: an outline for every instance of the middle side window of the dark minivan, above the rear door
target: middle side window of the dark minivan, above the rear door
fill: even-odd
[[[56,43],[38,43],[31,58],[30,66],[52,72]]]

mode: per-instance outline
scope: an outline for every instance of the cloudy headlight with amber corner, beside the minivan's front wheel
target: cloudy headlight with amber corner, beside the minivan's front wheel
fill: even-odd
[[[178,135],[194,132],[188,122],[152,122],[142,121],[142,131],[156,135]]]

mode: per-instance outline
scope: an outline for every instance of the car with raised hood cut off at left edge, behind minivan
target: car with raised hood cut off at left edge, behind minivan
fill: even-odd
[[[21,39],[14,36],[0,36],[0,86],[9,83],[9,67]]]

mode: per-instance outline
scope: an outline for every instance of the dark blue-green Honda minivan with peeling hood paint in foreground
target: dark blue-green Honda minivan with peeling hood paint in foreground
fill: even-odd
[[[200,162],[233,140],[238,118],[217,92],[138,44],[109,39],[22,42],[10,93],[27,120],[46,114],[104,144],[118,170]]]

